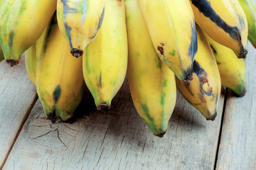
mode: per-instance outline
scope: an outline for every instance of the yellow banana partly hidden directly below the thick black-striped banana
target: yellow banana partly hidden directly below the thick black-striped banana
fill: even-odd
[[[204,34],[218,64],[221,85],[232,89],[237,96],[246,94],[245,63],[244,59],[237,59],[236,54]]]

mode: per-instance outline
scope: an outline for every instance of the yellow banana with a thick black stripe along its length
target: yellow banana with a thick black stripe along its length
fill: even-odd
[[[221,45],[231,48],[239,58],[246,57],[248,25],[238,1],[190,0],[196,24]]]

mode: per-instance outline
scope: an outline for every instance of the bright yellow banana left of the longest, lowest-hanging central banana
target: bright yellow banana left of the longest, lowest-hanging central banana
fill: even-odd
[[[84,80],[98,110],[109,110],[127,69],[124,1],[107,0],[102,27],[83,55]]]

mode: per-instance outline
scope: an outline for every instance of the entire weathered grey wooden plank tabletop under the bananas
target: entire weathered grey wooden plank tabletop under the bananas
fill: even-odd
[[[127,81],[109,113],[88,90],[74,124],[45,119],[24,59],[0,63],[0,169],[256,169],[256,50],[246,59],[248,93],[223,89],[214,122],[180,94],[164,138],[132,104]]]

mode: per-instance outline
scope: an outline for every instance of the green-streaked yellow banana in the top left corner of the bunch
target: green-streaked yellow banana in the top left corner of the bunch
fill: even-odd
[[[0,10],[0,43],[10,66],[19,63],[20,56],[35,44],[49,24],[56,0],[4,0]]]

